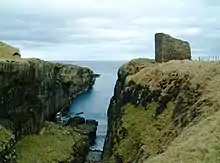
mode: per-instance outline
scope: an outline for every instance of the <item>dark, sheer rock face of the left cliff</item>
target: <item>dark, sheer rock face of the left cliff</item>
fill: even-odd
[[[0,125],[14,134],[14,140],[39,133],[46,120],[53,120],[93,84],[94,74],[88,68],[39,59],[1,59]],[[1,128],[0,136],[7,137],[3,133]],[[0,145],[0,162],[10,162],[14,157],[7,147],[13,148],[10,142]]]

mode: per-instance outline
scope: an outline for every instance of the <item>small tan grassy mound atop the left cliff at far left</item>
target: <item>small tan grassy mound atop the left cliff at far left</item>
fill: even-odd
[[[0,57],[1,58],[20,58],[19,49],[7,45],[0,41]]]

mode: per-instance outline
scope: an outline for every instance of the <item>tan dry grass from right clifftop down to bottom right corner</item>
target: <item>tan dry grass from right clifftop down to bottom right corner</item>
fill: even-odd
[[[191,123],[170,144],[165,153],[147,159],[146,163],[218,163],[220,162],[220,62],[170,61],[152,64],[129,76],[128,81],[157,89],[159,81],[178,74],[190,78],[190,85],[202,92],[201,117]]]

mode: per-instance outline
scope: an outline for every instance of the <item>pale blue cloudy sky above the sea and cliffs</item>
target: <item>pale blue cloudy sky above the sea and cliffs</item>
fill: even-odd
[[[44,60],[154,58],[154,34],[218,55],[219,0],[2,0],[0,40]]]

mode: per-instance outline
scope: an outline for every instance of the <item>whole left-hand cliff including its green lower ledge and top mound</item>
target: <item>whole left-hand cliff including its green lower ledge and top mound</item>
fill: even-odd
[[[21,59],[2,42],[0,57],[0,162],[83,162],[90,142],[89,133],[81,133],[94,131],[46,121],[93,86],[93,71]]]

